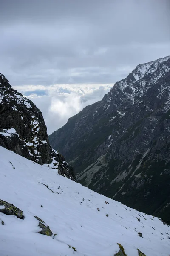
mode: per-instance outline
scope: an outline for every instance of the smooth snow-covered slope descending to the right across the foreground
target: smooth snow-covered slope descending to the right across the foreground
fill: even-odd
[[[0,212],[0,256],[113,256],[119,251],[117,243],[127,256],[138,256],[137,249],[146,256],[169,256],[170,227],[158,218],[3,147],[0,156],[0,199],[25,216]],[[49,225],[51,237],[37,233],[41,229],[35,215]]]

